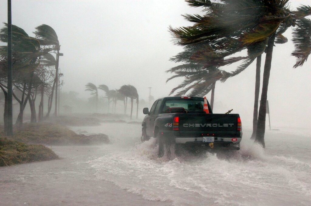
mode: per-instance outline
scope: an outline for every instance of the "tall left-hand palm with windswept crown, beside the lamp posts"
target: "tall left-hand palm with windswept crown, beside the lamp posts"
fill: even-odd
[[[55,111],[54,114],[57,116],[57,95],[58,95],[58,65],[59,65],[59,50],[60,50],[60,44],[58,41],[57,34],[55,30],[46,24],[41,24],[40,26],[37,26],[36,31],[34,34],[36,35],[36,38],[39,39],[40,44],[42,46],[50,46],[49,50],[56,51],[56,75],[55,75],[55,82],[56,82],[56,90],[55,90]]]

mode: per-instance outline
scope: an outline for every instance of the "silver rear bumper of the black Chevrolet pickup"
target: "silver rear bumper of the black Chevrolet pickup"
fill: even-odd
[[[234,141],[236,140],[236,141]],[[229,144],[239,144],[242,140],[242,137],[216,137],[214,142],[219,143],[229,143]],[[203,142],[203,137],[176,137],[175,142],[178,144],[208,144],[209,142]]]

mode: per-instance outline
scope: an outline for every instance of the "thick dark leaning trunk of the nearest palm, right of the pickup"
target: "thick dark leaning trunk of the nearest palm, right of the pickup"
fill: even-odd
[[[264,66],[263,78],[262,78],[262,91],[261,91],[260,107],[259,107],[259,113],[258,113],[256,139],[255,139],[255,142],[258,142],[259,144],[261,144],[263,148],[266,147],[265,140],[264,140],[265,129],[266,129],[266,104],[267,104],[268,84],[269,84],[275,36],[276,34],[274,33],[269,38],[268,46],[267,46],[265,66]]]

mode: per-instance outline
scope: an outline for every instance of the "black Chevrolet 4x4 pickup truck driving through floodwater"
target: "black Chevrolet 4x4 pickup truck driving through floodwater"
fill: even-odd
[[[153,103],[142,122],[142,141],[157,138],[159,156],[165,144],[224,147],[239,150],[242,125],[239,114],[213,114],[207,102],[208,113],[203,110],[204,98],[165,97]]]

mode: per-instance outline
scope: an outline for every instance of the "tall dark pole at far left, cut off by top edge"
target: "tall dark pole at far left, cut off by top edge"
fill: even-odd
[[[12,4],[7,0],[7,136],[13,135],[12,105]]]

